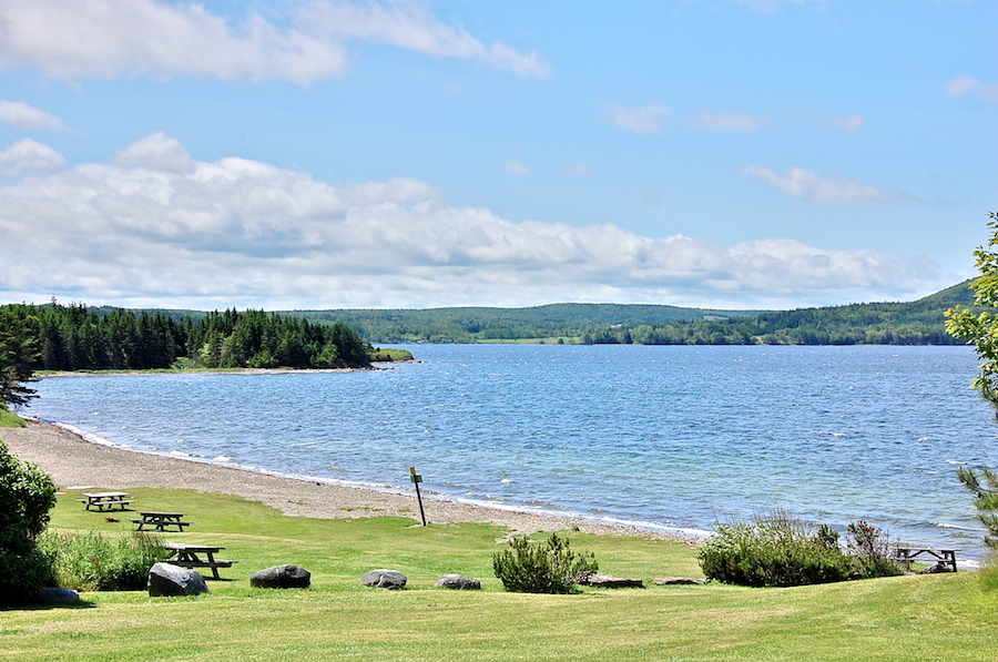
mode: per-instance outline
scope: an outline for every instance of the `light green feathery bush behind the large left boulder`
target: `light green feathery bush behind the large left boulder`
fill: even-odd
[[[74,591],[142,590],[150,568],[171,554],[144,531],[122,537],[47,531],[39,538],[39,549],[51,560],[55,583]]]

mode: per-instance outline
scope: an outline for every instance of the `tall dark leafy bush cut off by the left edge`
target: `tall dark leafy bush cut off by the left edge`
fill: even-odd
[[[35,539],[54,505],[52,479],[34,465],[22,465],[0,441],[0,604],[34,600],[49,579]]]

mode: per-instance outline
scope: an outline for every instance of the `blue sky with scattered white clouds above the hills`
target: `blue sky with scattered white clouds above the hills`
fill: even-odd
[[[975,274],[998,2],[3,0],[0,302],[790,309]]]

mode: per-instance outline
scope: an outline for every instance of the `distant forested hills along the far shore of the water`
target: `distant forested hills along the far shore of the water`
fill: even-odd
[[[909,303],[795,310],[721,310],[664,305],[550,304],[529,308],[285,310],[316,324],[344,322],[369,343],[633,343],[645,345],[953,345],[944,312],[974,306],[971,281]],[[91,308],[110,314],[114,308]],[[201,310],[157,310],[197,322]]]

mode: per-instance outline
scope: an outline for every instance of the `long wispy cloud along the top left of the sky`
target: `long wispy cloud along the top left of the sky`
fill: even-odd
[[[281,18],[293,27],[275,27],[253,11],[234,21],[198,3],[9,0],[0,4],[0,68],[67,79],[195,75],[308,84],[344,75],[345,43],[364,40],[478,59],[519,75],[550,73],[536,52],[502,42],[487,47],[416,2],[313,0]]]

